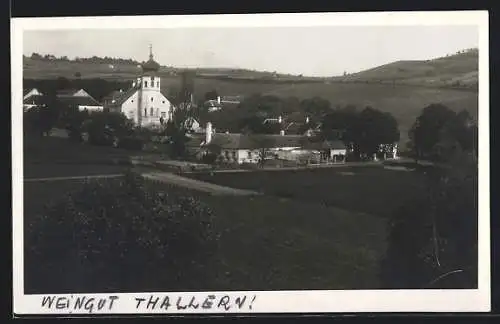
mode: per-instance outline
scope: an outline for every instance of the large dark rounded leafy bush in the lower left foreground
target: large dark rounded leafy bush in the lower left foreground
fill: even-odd
[[[208,207],[128,174],[48,205],[29,224],[26,246],[38,268],[31,280],[45,289],[158,291],[199,284],[217,240]]]

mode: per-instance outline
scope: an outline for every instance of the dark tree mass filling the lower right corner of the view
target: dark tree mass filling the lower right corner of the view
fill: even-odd
[[[390,222],[384,284],[393,289],[474,289],[477,165],[431,167],[426,174],[425,194],[396,209]]]

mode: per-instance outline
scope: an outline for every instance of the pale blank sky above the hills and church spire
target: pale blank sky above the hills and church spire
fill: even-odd
[[[476,26],[325,26],[25,31],[23,54],[148,59],[307,76],[355,73],[478,47]]]

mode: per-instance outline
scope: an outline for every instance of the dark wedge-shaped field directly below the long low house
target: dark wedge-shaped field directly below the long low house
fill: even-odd
[[[384,217],[421,194],[424,188],[424,178],[416,172],[386,170],[379,166],[213,175],[192,173],[186,176],[296,202],[335,206]]]

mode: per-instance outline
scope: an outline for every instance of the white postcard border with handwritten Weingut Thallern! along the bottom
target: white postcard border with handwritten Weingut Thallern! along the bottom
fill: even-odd
[[[489,25],[487,11],[454,12],[363,12],[316,14],[252,14],[190,15],[138,17],[71,17],[15,18],[11,20],[12,104],[22,106],[23,31],[57,29],[124,28],[218,28],[271,26],[408,26],[408,25],[473,25],[479,30],[479,285],[476,290],[320,290],[320,291],[242,291],[116,294],[112,309],[92,307],[92,314],[159,314],[159,313],[317,313],[317,312],[487,312],[490,311],[490,210],[489,210]],[[89,309],[42,307],[44,296],[24,294],[23,263],[23,146],[22,110],[12,111],[13,170],[13,293],[14,313],[89,314]],[[62,306],[74,299],[108,298],[113,294],[57,295]],[[213,302],[224,296],[234,301],[247,297],[241,308],[190,307],[177,309],[192,298],[203,301],[213,295]],[[136,298],[164,299],[172,306],[158,309],[137,308]],[[254,298],[250,303],[249,301]],[[66,299],[64,299],[66,298]],[[209,297],[212,300],[212,297]],[[56,302],[56,301],[54,301]],[[97,304],[96,304],[97,305]],[[251,305],[251,308],[250,306]]]

